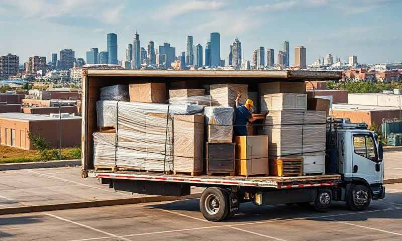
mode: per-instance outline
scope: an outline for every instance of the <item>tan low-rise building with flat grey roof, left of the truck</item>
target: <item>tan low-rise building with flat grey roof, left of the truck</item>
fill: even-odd
[[[59,136],[59,117],[43,114],[0,113],[0,144],[33,150],[29,133],[43,137],[53,148],[74,147],[81,143],[81,117],[61,118]]]

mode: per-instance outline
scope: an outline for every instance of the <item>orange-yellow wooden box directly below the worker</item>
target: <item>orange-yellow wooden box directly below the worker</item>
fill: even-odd
[[[236,137],[236,173],[268,175],[268,136]]]

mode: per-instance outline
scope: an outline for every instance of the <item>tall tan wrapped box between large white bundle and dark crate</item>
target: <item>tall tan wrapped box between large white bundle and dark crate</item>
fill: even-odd
[[[174,115],[173,140],[174,172],[200,175],[204,169],[204,114]]]

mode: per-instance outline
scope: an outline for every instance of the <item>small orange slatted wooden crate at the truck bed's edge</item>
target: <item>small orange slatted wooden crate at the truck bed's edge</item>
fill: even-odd
[[[302,176],[303,157],[270,159],[269,175],[278,177]]]

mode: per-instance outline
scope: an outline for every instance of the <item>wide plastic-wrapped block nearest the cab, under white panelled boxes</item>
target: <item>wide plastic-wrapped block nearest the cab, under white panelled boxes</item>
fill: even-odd
[[[322,155],[325,151],[325,111],[269,111],[262,135],[269,136],[269,157]]]

